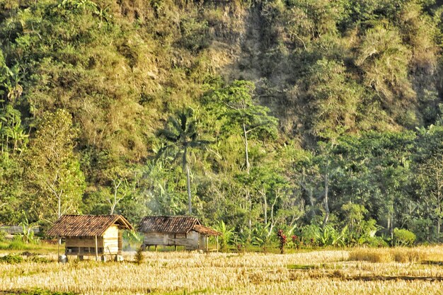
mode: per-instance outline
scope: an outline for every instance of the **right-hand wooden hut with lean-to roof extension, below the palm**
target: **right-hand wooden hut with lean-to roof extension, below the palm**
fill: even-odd
[[[164,245],[185,246],[186,250],[209,250],[208,237],[219,236],[217,231],[202,226],[192,216],[146,216],[140,222],[139,231],[144,233],[144,248]]]

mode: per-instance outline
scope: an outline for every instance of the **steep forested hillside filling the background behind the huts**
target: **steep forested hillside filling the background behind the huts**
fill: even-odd
[[[0,0],[0,223],[443,241],[442,41],[434,0]]]

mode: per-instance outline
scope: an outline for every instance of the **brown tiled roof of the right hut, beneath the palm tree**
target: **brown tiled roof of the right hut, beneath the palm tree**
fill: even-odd
[[[143,233],[189,233],[197,231],[205,236],[218,236],[219,233],[192,216],[146,216],[139,225]]]

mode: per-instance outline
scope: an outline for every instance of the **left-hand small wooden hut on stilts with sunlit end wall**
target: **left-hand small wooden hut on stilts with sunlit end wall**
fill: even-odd
[[[65,255],[80,259],[94,255],[96,260],[105,255],[111,258],[121,254],[122,230],[134,229],[121,215],[64,215],[47,231],[48,236],[65,239]]]

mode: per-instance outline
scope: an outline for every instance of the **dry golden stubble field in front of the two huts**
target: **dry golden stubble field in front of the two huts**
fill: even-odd
[[[287,255],[150,252],[144,253],[144,257],[141,265],[95,261],[71,261],[65,265],[57,262],[0,264],[0,291],[40,288],[116,295],[178,295],[184,291],[226,295],[441,294],[442,283],[435,280],[443,278],[441,265],[420,262],[443,260],[443,247],[328,250]],[[132,256],[126,258],[132,260]],[[405,276],[412,279],[380,279]]]

